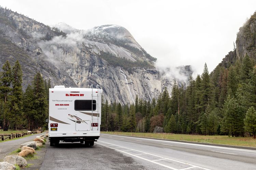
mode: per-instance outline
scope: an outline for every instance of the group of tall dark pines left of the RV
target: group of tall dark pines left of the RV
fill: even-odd
[[[9,61],[0,72],[0,126],[8,129],[36,130],[45,125],[48,117],[48,89],[50,82],[35,74],[31,85],[22,90],[22,68],[18,61],[13,67]]]

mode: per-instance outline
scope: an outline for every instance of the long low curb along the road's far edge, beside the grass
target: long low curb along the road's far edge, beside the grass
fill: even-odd
[[[110,134],[110,133],[101,133],[101,134],[117,135],[117,134]],[[256,150],[256,147],[244,147],[244,146],[235,146],[235,145],[225,145],[225,144],[215,144],[215,143],[204,143],[204,142],[193,142],[193,141],[174,140],[174,139],[161,139],[161,138],[152,138],[152,137],[128,136],[128,135],[117,135],[117,136],[127,136],[127,137],[136,137],[136,138],[145,138],[145,139],[166,140],[166,141],[172,141],[172,142],[193,143],[193,144],[209,145],[209,146],[217,146],[217,147],[227,147],[227,148],[237,148],[237,149]]]

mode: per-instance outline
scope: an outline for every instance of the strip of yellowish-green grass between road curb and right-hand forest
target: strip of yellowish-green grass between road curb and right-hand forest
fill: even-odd
[[[228,137],[228,136],[204,136],[170,133],[130,133],[130,132],[101,132],[116,135],[128,135],[138,137],[151,137],[160,139],[185,140],[193,142],[215,143],[234,146],[256,147],[256,139],[253,137]]]

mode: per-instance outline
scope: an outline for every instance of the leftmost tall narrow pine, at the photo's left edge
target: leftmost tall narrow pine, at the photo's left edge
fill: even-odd
[[[8,131],[10,125],[10,119],[12,115],[10,113],[10,92],[12,90],[12,70],[9,64],[9,61],[6,61],[2,67],[2,72],[0,73],[0,91],[1,91],[1,99],[3,100],[3,130]]]

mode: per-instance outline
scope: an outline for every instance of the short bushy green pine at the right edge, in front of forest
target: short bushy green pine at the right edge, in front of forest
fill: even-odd
[[[253,133],[253,138],[256,138],[256,111],[254,107],[250,107],[246,112],[244,119],[245,130]]]

